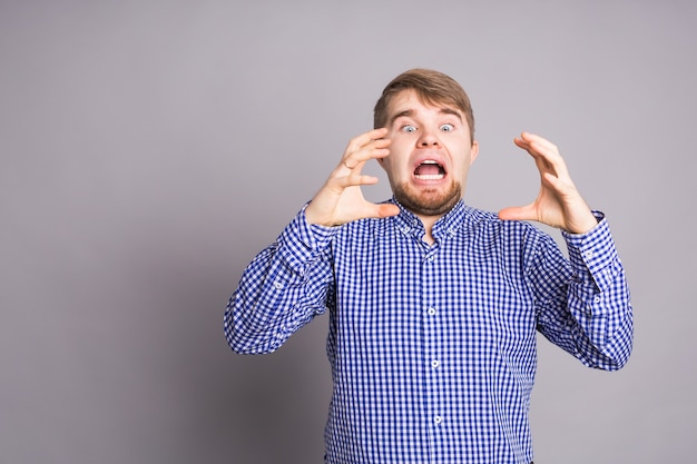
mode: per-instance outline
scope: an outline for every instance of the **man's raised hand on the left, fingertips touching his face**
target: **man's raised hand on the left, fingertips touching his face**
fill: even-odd
[[[366,201],[361,191],[361,186],[377,182],[376,177],[364,176],[361,171],[367,160],[390,155],[387,147],[391,140],[383,138],[386,135],[387,129],[381,128],[351,139],[341,162],[305,208],[305,218],[310,224],[331,227],[400,213],[395,205]]]

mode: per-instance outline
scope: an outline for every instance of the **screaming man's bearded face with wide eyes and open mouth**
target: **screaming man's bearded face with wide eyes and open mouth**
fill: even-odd
[[[479,146],[454,107],[423,103],[414,90],[390,102],[390,155],[380,160],[395,198],[418,216],[442,216],[462,198]]]

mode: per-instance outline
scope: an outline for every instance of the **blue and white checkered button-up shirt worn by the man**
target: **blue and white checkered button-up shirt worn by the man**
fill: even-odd
[[[529,463],[536,330],[601,369],[631,351],[625,272],[596,215],[562,233],[565,258],[531,225],[463,203],[432,246],[404,208],[332,228],[301,211],[245,270],[225,334],[268,353],[328,310],[326,463]]]

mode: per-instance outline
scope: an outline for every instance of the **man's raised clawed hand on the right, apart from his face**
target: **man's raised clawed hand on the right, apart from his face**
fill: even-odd
[[[537,220],[571,234],[592,229],[598,221],[573,185],[557,146],[529,132],[522,132],[514,144],[534,159],[540,171],[540,192],[530,205],[500,210],[499,218]]]

